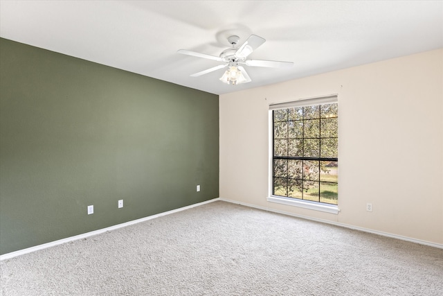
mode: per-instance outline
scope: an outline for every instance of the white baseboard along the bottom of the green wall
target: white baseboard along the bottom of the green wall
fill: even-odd
[[[193,207],[199,207],[199,206],[201,206],[203,204],[208,204],[210,202],[215,202],[217,200],[219,200],[219,198],[214,198],[213,200],[206,200],[204,202],[199,202],[197,204],[191,204],[191,205],[186,206],[186,207],[181,207],[179,209],[173,209],[171,211],[165,211],[165,212],[160,213],[160,214],[156,214],[156,215],[152,215],[152,216],[147,216],[145,218],[140,218],[140,219],[137,219],[137,220],[128,221],[128,222],[121,223],[121,224],[118,224],[118,225],[114,225],[114,226],[111,226],[111,227],[106,227],[106,228],[94,230],[93,232],[87,232],[85,234],[79,234],[78,236],[71,236],[69,238],[63,238],[63,239],[60,239],[58,241],[51,241],[50,243],[44,243],[42,245],[35,245],[34,247],[28,247],[28,248],[23,249],[23,250],[18,250],[18,251],[15,251],[15,252],[10,252],[10,253],[1,255],[0,256],[0,261],[1,260],[6,260],[6,259],[11,259],[13,257],[20,256],[20,255],[23,255],[23,254],[28,254],[30,252],[35,252],[35,251],[38,251],[38,250],[43,250],[43,249],[46,249],[47,247],[53,247],[55,245],[61,245],[62,243],[69,243],[70,241],[76,241],[78,239],[87,238],[89,236],[95,236],[97,234],[102,234],[104,232],[109,232],[109,231],[114,230],[114,229],[126,227],[126,226],[129,226],[129,225],[134,225],[134,224],[141,223],[141,222],[145,222],[147,220],[159,218],[161,216],[165,216],[165,215],[169,215],[169,214],[174,214],[174,213],[177,213],[179,211],[184,211],[186,209],[192,209]]]

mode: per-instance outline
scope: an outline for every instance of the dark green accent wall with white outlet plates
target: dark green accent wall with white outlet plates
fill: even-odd
[[[0,39],[0,254],[218,194],[217,95]]]

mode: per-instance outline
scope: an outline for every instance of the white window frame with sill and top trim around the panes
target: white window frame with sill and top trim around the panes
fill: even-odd
[[[338,209],[338,205],[336,204],[325,204],[322,202],[311,202],[309,200],[298,200],[296,198],[287,198],[283,196],[273,195],[272,187],[273,187],[273,110],[279,109],[287,109],[291,107],[306,107],[311,105],[320,105],[327,103],[338,103],[337,94],[331,94],[328,96],[318,96],[315,98],[303,98],[296,101],[289,101],[283,103],[274,103],[269,105],[268,119],[269,119],[269,147],[268,147],[268,155],[269,155],[269,172],[268,172],[268,197],[266,200],[268,202],[275,202],[278,204],[286,204],[293,207],[301,207],[303,209],[311,209],[314,211],[324,211],[331,214],[338,214],[340,209]],[[340,108],[338,108],[340,110]],[[340,111],[338,111],[340,112]],[[340,117],[340,116],[338,116]]]

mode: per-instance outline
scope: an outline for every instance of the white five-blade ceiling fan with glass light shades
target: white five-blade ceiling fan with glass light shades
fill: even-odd
[[[248,55],[255,51],[255,49],[257,49],[260,45],[264,44],[266,40],[264,40],[264,38],[260,36],[251,35],[248,37],[248,40],[244,42],[244,44],[237,47],[239,40],[240,38],[237,35],[228,37],[228,42],[232,44],[233,47],[230,49],[225,49],[220,53],[218,57],[215,55],[207,55],[206,53],[188,51],[186,49],[180,49],[177,52],[183,55],[192,55],[197,58],[206,58],[208,60],[224,62],[224,64],[219,64],[218,66],[194,73],[191,76],[197,77],[227,67],[228,69],[224,72],[223,76],[221,76],[220,80],[232,85],[251,82],[251,78],[248,76],[248,73],[246,73],[244,67],[241,66],[242,64],[246,64],[246,66],[251,67],[268,68],[287,68],[293,66],[293,62],[280,62],[273,60],[246,60]]]

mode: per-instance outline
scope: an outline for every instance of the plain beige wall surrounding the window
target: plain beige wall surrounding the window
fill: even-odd
[[[221,95],[220,198],[442,244],[442,85],[439,49]],[[269,103],[327,94],[338,94],[340,213],[267,202]]]

